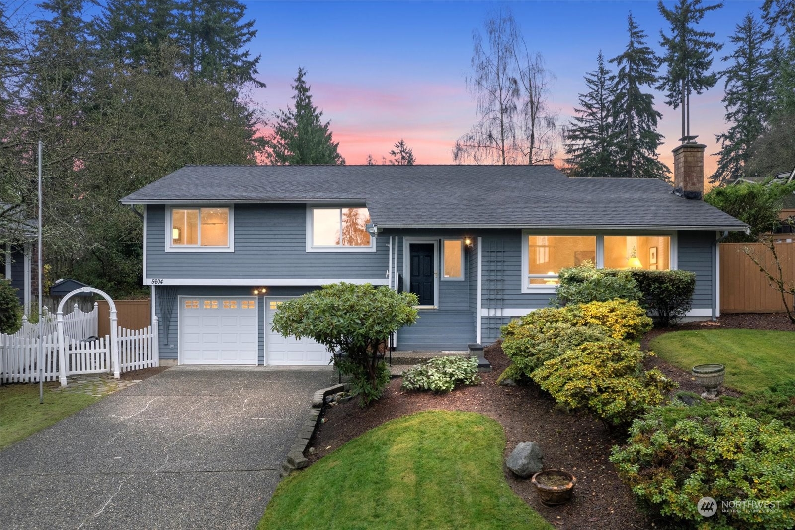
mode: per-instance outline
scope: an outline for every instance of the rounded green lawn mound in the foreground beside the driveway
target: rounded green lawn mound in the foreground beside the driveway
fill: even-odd
[[[282,481],[258,528],[553,528],[511,491],[504,448],[483,415],[394,419]]]

